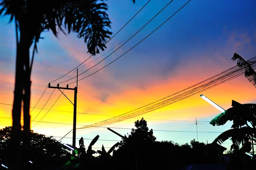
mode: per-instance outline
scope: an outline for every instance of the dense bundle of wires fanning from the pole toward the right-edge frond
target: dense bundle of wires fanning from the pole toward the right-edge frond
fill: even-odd
[[[255,63],[256,59],[255,58],[252,58],[252,59],[249,60],[249,61],[253,61],[253,64],[252,64],[253,68],[256,67],[255,66],[256,65],[256,63]],[[232,67],[232,68],[230,68],[230,69],[228,69],[224,72],[219,73],[218,75],[215,75],[211,78],[208,78],[207,80],[201,81],[198,84],[190,86],[186,89],[183,89],[179,92],[176,92],[172,95],[169,95],[169,96],[167,96],[165,98],[162,98],[158,101],[155,101],[151,104],[147,104],[143,107],[134,109],[130,112],[123,113],[122,115],[118,115],[114,118],[109,118],[105,121],[101,121],[101,122],[98,122],[98,123],[95,123],[95,124],[91,124],[87,127],[81,127],[81,128],[78,128],[78,129],[84,129],[84,128],[95,127],[95,126],[105,126],[105,125],[109,125],[109,124],[114,124],[114,123],[119,122],[119,121],[124,121],[126,119],[133,118],[133,117],[136,117],[138,115],[142,115],[142,114],[145,114],[147,112],[151,112],[153,110],[165,107],[169,104],[173,104],[177,101],[180,101],[180,100],[188,98],[192,95],[198,94],[199,92],[203,92],[203,91],[205,91],[207,89],[210,89],[214,86],[218,86],[220,84],[223,84],[223,83],[225,83],[227,81],[230,81],[230,80],[232,80],[236,77],[239,77],[243,74],[244,74],[244,68],[240,68],[239,66],[235,66],[235,67]]]

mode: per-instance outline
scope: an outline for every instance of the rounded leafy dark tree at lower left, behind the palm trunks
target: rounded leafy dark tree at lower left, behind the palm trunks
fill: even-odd
[[[7,167],[11,167],[13,163],[13,150],[11,147],[11,130],[12,127],[5,127],[0,130],[0,159],[4,161]],[[24,131],[22,131],[22,141],[24,140]],[[38,165],[37,169],[44,169],[52,165],[63,164],[71,156],[70,150],[65,148],[63,144],[58,142],[52,136],[47,137],[42,134],[34,133],[33,130],[30,131],[31,141],[28,152],[29,163],[28,165]],[[20,144],[23,148],[23,143]],[[45,162],[48,162],[45,164]]]

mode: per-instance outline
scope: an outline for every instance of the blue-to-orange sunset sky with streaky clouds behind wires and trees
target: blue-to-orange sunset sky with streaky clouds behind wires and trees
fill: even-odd
[[[148,0],[136,0],[134,4],[130,0],[106,1],[113,35],[147,2]],[[111,54],[113,50],[108,52],[110,49],[148,22],[167,3],[169,0],[151,0],[122,31],[113,37],[105,51],[91,57],[81,65],[78,72],[84,72],[103,57]],[[118,58],[185,3],[186,0],[174,0],[124,46],[93,69],[80,75],[79,79]],[[256,2],[253,0],[191,0],[134,49],[96,74],[79,81],[77,127],[104,121],[137,109],[236,66],[236,62],[231,60],[234,52],[246,60],[255,57],[256,11],[253,9],[255,5]],[[0,128],[12,125],[12,106],[4,105],[13,102],[15,81],[15,27],[14,23],[8,21],[8,16],[0,18]],[[76,34],[71,33],[67,36],[60,34],[56,38],[52,32],[44,32],[41,36],[44,39],[38,43],[38,54],[35,55],[32,70],[31,107],[35,106],[50,81],[61,77],[90,57],[86,44],[82,39],[78,39]],[[118,46],[114,49],[117,48]],[[105,54],[106,52],[108,53]],[[102,55],[104,56],[99,58]],[[93,61],[96,58],[99,59]],[[51,85],[56,86],[74,75],[76,75],[75,71],[70,72]],[[73,81],[70,80],[69,83]],[[65,85],[61,84],[61,86]],[[75,86],[76,84],[69,85],[71,88]],[[53,89],[47,88],[36,107],[44,107],[52,92]],[[241,76],[208,89],[202,94],[224,109],[228,109],[232,100],[242,104],[255,103],[255,92],[255,87]],[[64,91],[64,93],[71,101],[74,100],[73,91]],[[200,142],[211,143],[221,132],[230,129],[231,124],[227,123],[220,127],[210,125],[209,121],[220,114],[220,111],[204,101],[200,95],[194,95],[107,127],[128,128],[113,129],[124,135],[131,132],[129,128],[134,127],[134,121],[143,117],[148,127],[153,129],[157,141],[172,140],[184,144],[198,138]],[[46,109],[51,107],[52,110],[47,113]],[[39,121],[47,113],[41,120],[44,122],[38,123],[35,127],[33,126],[37,122],[32,122],[32,130],[55,136],[58,140],[73,128],[73,105],[60,92],[55,90],[44,108],[34,109],[31,112],[32,120],[38,115],[35,121]],[[198,121],[197,126],[195,119]],[[197,129],[198,133],[196,133]],[[85,138],[84,144],[87,147],[90,139],[96,135],[100,137],[94,145],[95,150],[102,144],[108,148],[121,140],[106,128],[77,130],[76,137]],[[72,144],[72,135],[62,142]],[[223,146],[230,149],[230,144],[231,141],[225,141]]]

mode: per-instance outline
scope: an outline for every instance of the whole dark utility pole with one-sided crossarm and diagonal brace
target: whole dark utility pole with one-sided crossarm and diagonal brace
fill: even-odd
[[[60,90],[60,89],[67,89],[67,90],[74,90],[74,103],[72,103],[72,101],[70,101],[69,98],[67,98],[67,100],[70,101],[71,104],[73,104],[74,106],[74,116],[73,116],[73,143],[72,146],[74,149],[76,149],[76,104],[77,104],[77,86],[78,86],[78,69],[76,69],[76,87],[75,88],[69,88],[68,84],[66,87],[59,87],[59,84],[57,85],[57,87],[55,86],[51,86],[51,84],[48,84],[48,88],[52,88],[52,89],[58,89],[66,98],[67,96]],[[75,156],[75,150],[72,151],[72,156]]]

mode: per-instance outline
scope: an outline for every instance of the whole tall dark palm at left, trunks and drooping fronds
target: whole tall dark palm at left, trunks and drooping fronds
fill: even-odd
[[[135,2],[135,0],[133,0]],[[0,2],[0,15],[10,15],[16,26],[16,72],[15,91],[12,109],[13,147],[17,160],[16,170],[20,169],[20,117],[23,101],[25,148],[30,140],[30,88],[31,72],[37,43],[43,37],[41,33],[51,30],[58,37],[59,32],[74,32],[87,43],[92,55],[106,48],[106,39],[110,37],[110,20],[106,11],[108,6],[102,0],[3,0]],[[18,36],[18,31],[20,35]],[[34,44],[34,45],[33,45]],[[30,61],[29,49],[34,46]],[[23,157],[26,159],[26,152]]]

